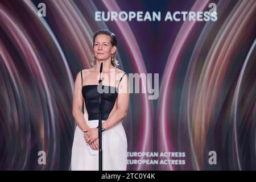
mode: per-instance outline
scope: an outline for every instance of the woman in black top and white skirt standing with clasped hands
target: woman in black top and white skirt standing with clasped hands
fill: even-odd
[[[75,80],[72,113],[77,126],[71,169],[98,170],[98,80],[103,63],[102,84],[109,92],[102,96],[102,169],[126,170],[127,139],[121,121],[129,106],[129,81],[116,68],[117,38],[112,32],[104,29],[94,34],[93,55],[93,68],[80,71]]]

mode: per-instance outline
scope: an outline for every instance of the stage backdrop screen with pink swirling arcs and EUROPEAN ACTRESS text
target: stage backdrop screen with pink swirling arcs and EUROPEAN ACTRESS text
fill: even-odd
[[[106,28],[127,170],[255,170],[255,17],[254,0],[0,1],[0,169],[71,169],[74,82]]]

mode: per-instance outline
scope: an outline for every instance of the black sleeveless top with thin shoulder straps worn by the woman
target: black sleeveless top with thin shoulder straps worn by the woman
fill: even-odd
[[[126,73],[123,74],[125,76]],[[120,81],[122,80],[123,76],[119,80],[118,86]],[[81,71],[82,77],[82,71]],[[104,93],[102,93],[102,120],[106,120],[109,117],[110,112],[112,111],[115,100],[117,100],[118,96],[118,87],[115,86],[106,86],[103,85],[102,88]],[[88,113],[88,120],[97,120],[99,119],[99,93],[98,93],[98,85],[84,85],[82,86],[82,96],[84,97],[86,110]],[[84,102],[82,103],[84,105]],[[84,111],[82,107],[82,111]]]

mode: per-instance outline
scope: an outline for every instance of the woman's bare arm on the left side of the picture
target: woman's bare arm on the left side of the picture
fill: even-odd
[[[77,125],[80,127],[82,131],[84,131],[88,129],[89,126],[87,125],[84,119],[84,115],[82,115],[82,102],[84,102],[84,98],[82,97],[82,79],[81,79],[81,73],[79,72],[76,76],[76,81],[75,81],[72,114],[76,120]]]

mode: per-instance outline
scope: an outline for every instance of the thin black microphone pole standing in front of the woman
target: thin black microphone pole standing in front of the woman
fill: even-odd
[[[101,67],[100,67],[100,80],[98,81],[99,86],[101,86],[102,89],[102,80],[101,80],[101,73],[102,73],[102,66],[103,63],[101,62]],[[98,151],[98,171],[102,171],[102,132],[101,132],[101,122],[102,122],[102,103],[101,103],[101,98],[102,98],[102,93],[100,92],[98,94],[98,111],[99,111],[99,119],[98,119],[98,143],[99,143],[99,151]]]

